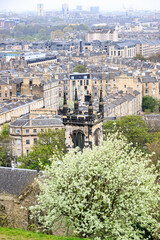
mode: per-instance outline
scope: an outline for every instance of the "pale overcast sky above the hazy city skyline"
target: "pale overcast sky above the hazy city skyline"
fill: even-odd
[[[108,11],[121,11],[126,8],[160,11],[160,0],[0,0],[0,10],[36,11],[37,3],[43,3],[45,10],[61,9],[62,3],[68,3],[70,9],[82,5],[83,9],[99,6],[100,10]]]

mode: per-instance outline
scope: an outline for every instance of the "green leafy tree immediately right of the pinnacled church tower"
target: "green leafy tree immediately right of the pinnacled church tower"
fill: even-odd
[[[141,116],[125,116],[115,121],[107,121],[103,124],[104,137],[109,133],[119,131],[134,147],[143,148],[150,141],[148,128]]]

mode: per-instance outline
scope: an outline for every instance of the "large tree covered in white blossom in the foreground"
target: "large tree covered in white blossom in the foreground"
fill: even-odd
[[[83,153],[71,151],[61,165],[53,158],[39,180],[38,204],[31,207],[44,229],[64,221],[80,237],[159,239],[154,166],[147,167],[148,155],[117,136]]]

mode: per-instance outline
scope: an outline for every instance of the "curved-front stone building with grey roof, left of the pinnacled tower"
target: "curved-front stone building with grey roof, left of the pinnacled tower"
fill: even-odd
[[[9,124],[11,149],[14,157],[28,154],[38,140],[38,134],[48,129],[62,129],[61,116],[52,109],[31,110],[20,118],[13,118]]]

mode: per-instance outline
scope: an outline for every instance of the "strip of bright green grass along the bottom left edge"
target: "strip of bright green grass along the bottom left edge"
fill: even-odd
[[[76,237],[57,237],[43,233],[28,232],[19,228],[0,227],[0,240],[82,240]],[[85,239],[87,240],[87,239]],[[88,239],[89,240],[89,239]]]

